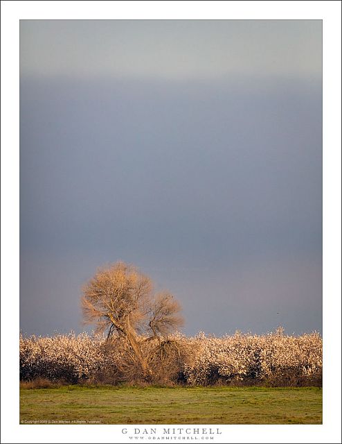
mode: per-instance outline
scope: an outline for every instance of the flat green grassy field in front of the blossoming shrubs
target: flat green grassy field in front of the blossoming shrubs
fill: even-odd
[[[21,388],[21,424],[321,424],[320,388]]]

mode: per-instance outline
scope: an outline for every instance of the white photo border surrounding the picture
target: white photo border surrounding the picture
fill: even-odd
[[[19,20],[319,19],[323,20],[323,425],[218,425],[222,435],[211,442],[341,442],[341,2],[1,1],[1,12],[1,441],[129,442],[122,433],[124,425],[19,425]]]

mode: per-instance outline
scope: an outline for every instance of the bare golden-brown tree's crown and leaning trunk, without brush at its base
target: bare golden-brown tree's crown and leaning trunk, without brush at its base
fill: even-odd
[[[165,338],[183,324],[181,307],[170,293],[153,293],[150,278],[135,266],[116,262],[100,268],[84,286],[84,322],[95,324],[107,339],[119,336],[142,373],[151,372],[143,341]]]

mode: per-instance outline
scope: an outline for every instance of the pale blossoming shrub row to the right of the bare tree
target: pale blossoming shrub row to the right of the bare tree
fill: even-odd
[[[322,339],[318,333],[285,336],[281,330],[263,336],[240,334],[192,339],[199,347],[195,359],[184,363],[190,384],[217,379],[267,380],[274,377],[320,377]]]

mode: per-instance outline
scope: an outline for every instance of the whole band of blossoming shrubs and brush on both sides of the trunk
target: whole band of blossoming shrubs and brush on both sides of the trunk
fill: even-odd
[[[150,382],[208,385],[219,380],[267,382],[291,375],[306,378],[309,384],[322,372],[322,339],[316,332],[287,336],[277,330],[262,336],[237,333],[221,338],[175,334],[161,344],[141,341],[150,362]],[[139,369],[120,339],[106,343],[87,334],[20,336],[20,377],[116,384],[139,379]]]

